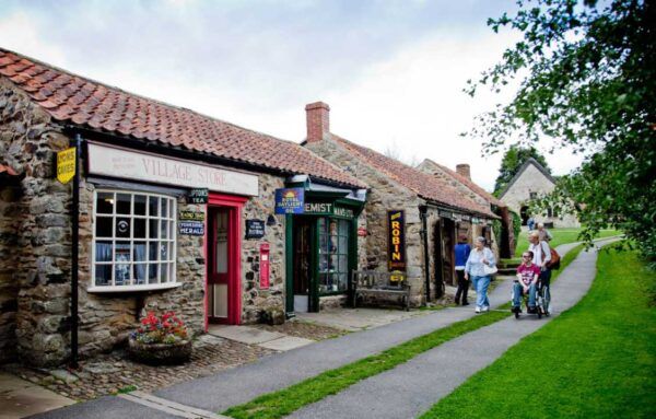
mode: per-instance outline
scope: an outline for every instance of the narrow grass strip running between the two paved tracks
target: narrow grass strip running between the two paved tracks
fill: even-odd
[[[552,281],[567,267],[583,249],[578,245],[570,251],[561,261],[561,269],[553,272]],[[507,306],[509,307],[509,302]],[[511,315],[509,311],[492,311],[485,315],[454,323],[445,328],[420,336],[405,344],[390,348],[375,356],[364,358],[335,370],[326,371],[290,387],[257,397],[246,404],[233,406],[222,412],[235,419],[273,419],[282,418],[293,411],[337,394],[359,381],[368,379],[390,370],[415,356],[433,349],[450,339],[489,326]]]

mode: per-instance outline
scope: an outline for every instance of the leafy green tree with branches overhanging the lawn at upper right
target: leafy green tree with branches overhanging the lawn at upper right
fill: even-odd
[[[515,81],[517,91],[477,117],[469,135],[483,140],[485,153],[541,138],[551,150],[572,146],[584,153],[549,205],[571,206],[585,225],[583,238],[618,228],[655,259],[655,2],[517,3],[515,15],[488,24],[519,31],[522,39],[466,90],[499,92]]]

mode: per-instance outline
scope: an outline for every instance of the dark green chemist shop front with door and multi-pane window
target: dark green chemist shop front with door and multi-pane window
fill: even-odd
[[[358,217],[364,206],[348,189],[303,190],[302,211],[286,216],[288,314],[342,305],[358,268]]]

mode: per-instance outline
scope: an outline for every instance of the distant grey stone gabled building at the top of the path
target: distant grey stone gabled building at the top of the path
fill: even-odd
[[[519,171],[513,176],[500,195],[500,199],[508,205],[522,218],[522,225],[531,214],[529,213],[530,201],[540,196],[550,194],[555,188],[555,179],[535,159],[528,159]],[[553,228],[579,228],[581,223],[576,216],[571,213],[558,213],[548,208],[543,213],[532,214],[536,222],[543,222]]]

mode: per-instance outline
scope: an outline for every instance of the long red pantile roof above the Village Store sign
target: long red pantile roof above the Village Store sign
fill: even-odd
[[[210,153],[284,174],[366,185],[291,141],[102,84],[0,48],[0,74],[59,121]]]

